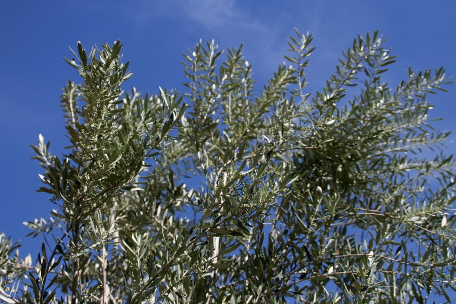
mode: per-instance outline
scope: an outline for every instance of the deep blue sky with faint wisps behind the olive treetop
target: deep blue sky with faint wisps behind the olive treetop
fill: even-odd
[[[22,221],[49,218],[53,208],[46,195],[35,192],[42,173],[28,144],[42,133],[51,152],[60,155],[65,141],[59,106],[61,87],[75,70],[68,46],[81,41],[86,49],[120,39],[124,58],[134,73],[124,87],[157,92],[158,86],[181,89],[181,53],[199,39],[221,49],[244,43],[245,58],[253,65],[261,87],[283,61],[293,27],[314,34],[309,90],[315,92],[334,71],[340,51],[359,34],[379,29],[389,37],[397,63],[385,74],[391,85],[415,70],[445,66],[456,76],[456,2],[439,1],[235,1],[139,0],[13,1],[0,9],[0,231],[22,239],[22,253],[35,257],[40,240],[25,238]],[[436,104],[431,116],[445,117],[436,126],[454,131],[456,84],[450,93],[430,96]],[[456,139],[451,135],[451,140]],[[456,150],[448,143],[448,154]],[[22,255],[22,254],[21,254]]]

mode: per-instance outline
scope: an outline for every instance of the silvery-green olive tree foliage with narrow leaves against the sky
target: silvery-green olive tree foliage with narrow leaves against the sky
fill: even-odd
[[[242,46],[220,63],[200,42],[184,53],[185,93],[144,97],[121,89],[119,41],[78,43],[65,59],[83,79],[61,97],[66,154],[42,135],[32,146],[57,207],[26,223],[45,236],[36,262],[0,236],[1,299],[450,301],[454,162],[428,118],[444,69],[389,87],[395,57],[374,32],[310,94],[311,42],[296,30],[259,94]]]

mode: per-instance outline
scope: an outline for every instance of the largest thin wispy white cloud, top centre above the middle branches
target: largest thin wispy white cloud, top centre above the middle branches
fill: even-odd
[[[284,11],[255,10],[236,0],[144,0],[136,16],[139,26],[150,26],[157,19],[176,20],[186,24],[183,30],[216,40],[223,45],[246,43],[244,50],[254,70],[263,74],[274,70],[283,60],[285,33],[292,30]],[[208,37],[209,35],[209,37]],[[251,58],[254,56],[255,58]],[[268,73],[270,74],[270,73]]]

